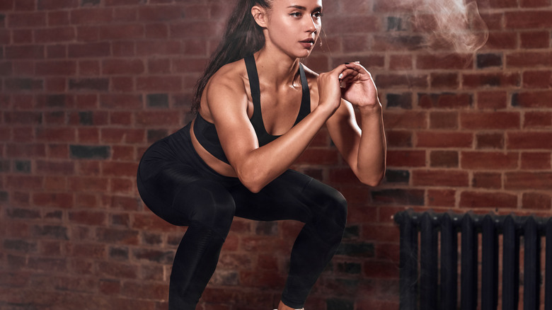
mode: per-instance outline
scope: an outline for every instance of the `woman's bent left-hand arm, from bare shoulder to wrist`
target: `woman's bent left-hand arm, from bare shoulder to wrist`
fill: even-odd
[[[343,71],[344,68],[340,70]],[[338,75],[338,71],[334,72]],[[207,105],[226,158],[241,183],[256,193],[299,158],[315,134],[340,105],[340,90],[326,90],[317,108],[275,141],[259,147],[246,113],[248,98],[243,82],[213,76]]]

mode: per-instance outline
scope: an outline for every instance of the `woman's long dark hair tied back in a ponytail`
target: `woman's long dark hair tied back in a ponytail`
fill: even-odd
[[[232,11],[222,41],[219,43],[207,67],[200,79],[197,80],[192,101],[192,112],[200,108],[200,101],[203,90],[211,76],[222,66],[236,62],[243,57],[253,54],[265,45],[263,29],[255,22],[251,15],[253,6],[261,6],[269,9],[271,0],[239,0]]]

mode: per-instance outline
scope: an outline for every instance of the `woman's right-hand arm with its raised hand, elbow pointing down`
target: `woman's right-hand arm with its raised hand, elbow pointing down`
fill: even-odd
[[[384,178],[386,170],[386,137],[381,103],[369,72],[357,63],[347,64],[347,68],[353,71],[343,72],[345,100],[328,120],[328,132],[355,176],[364,184],[376,186]],[[357,125],[353,105],[359,113],[362,130]]]

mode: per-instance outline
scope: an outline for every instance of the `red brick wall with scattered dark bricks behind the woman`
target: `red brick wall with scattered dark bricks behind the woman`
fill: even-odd
[[[185,229],[144,207],[134,173],[190,120],[233,3],[0,0],[0,309],[166,309]],[[479,1],[488,43],[460,53],[420,46],[406,6],[323,4],[323,47],[306,63],[372,71],[389,171],[361,185],[325,132],[297,163],[350,205],[307,307],[398,309],[395,212],[552,214],[552,3]],[[200,309],[272,309],[299,229],[236,219]]]

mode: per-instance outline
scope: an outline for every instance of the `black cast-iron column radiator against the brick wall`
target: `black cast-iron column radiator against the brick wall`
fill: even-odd
[[[523,309],[543,309],[544,276],[544,309],[552,310],[552,218],[412,210],[398,212],[393,218],[401,230],[401,310],[494,310],[499,296],[500,309],[518,309],[520,239]],[[546,238],[546,267],[541,266],[542,236]]]

